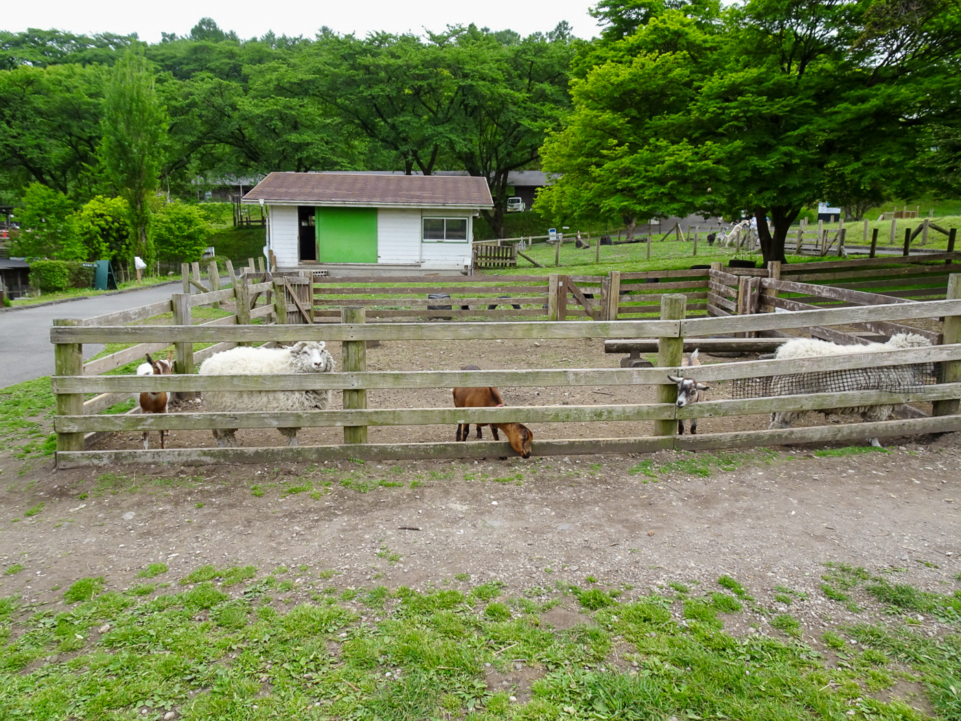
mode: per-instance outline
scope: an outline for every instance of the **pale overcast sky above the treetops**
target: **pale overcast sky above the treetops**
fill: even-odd
[[[522,36],[547,33],[567,20],[577,37],[599,34],[597,21],[587,14],[596,0],[516,2],[484,0],[468,3],[452,0],[341,0],[340,2],[253,2],[252,0],[9,0],[0,13],[0,30],[19,32],[27,28],[56,28],[78,35],[136,33],[141,40],[157,42],[160,33],[186,35],[201,17],[212,17],[224,31],[239,37],[259,37],[268,30],[277,35],[313,37],[327,25],[336,33],[413,32],[425,28],[443,31],[448,25],[468,25],[491,30],[514,30]]]

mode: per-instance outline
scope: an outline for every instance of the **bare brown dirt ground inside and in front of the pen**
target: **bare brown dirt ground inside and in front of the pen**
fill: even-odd
[[[338,356],[337,345],[332,350]],[[604,355],[601,339],[386,341],[368,351],[372,369],[468,362],[485,368],[613,367],[618,360]],[[502,391],[508,405],[547,405],[637,403],[650,398],[651,389]],[[714,392],[725,397],[723,388]],[[371,408],[397,406],[385,393],[371,392],[368,400]],[[446,389],[410,391],[401,401],[412,408],[449,404]],[[702,432],[763,428],[765,422],[756,416],[705,419]],[[889,453],[820,457],[814,446],[749,451],[724,465],[731,470],[715,464],[705,477],[692,458],[719,454],[536,456],[538,438],[638,435],[634,425],[539,424],[532,429],[530,460],[56,471],[49,460],[24,470],[21,461],[4,458],[0,566],[16,563],[24,570],[0,575],[0,595],[22,594],[56,608],[63,589],[79,578],[103,576],[109,588],[123,589],[138,583],[136,573],[152,562],[169,566],[156,581],[172,584],[206,563],[252,564],[261,574],[284,565],[296,569],[297,584],[288,594],[293,600],[330,584],[424,589],[490,580],[503,582],[509,593],[536,596],[558,583],[583,585],[588,576],[626,588],[629,598],[673,582],[718,590],[718,577],[727,574],[762,606],[794,614],[805,626],[805,640],[816,645],[827,623],[884,618],[864,599],[866,610],[857,616],[826,599],[820,590],[825,562],[873,573],[887,569],[894,582],[942,593],[959,585],[957,434],[888,438]],[[370,439],[453,440],[454,432],[371,429]],[[327,443],[340,433],[307,429],[299,437],[302,444]],[[276,432],[240,431],[238,438],[245,446],[283,443]],[[101,447],[136,448],[139,442],[139,435],[116,435]],[[168,441],[168,447],[211,444],[209,432],[173,432]],[[783,606],[775,600],[778,586],[807,595]],[[766,628],[761,615],[746,611],[744,618]],[[557,616],[557,625],[567,622]],[[937,633],[932,619],[920,623]]]

